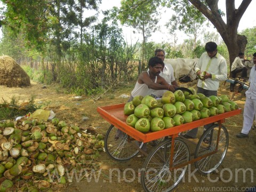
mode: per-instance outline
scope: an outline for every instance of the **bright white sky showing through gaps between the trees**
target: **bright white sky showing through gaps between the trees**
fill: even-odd
[[[102,0],[102,3],[100,5],[100,10],[108,10],[111,9],[113,6],[120,7],[121,6],[121,0]],[[235,6],[238,8],[238,6],[241,4],[242,0],[236,0]],[[226,0],[219,0],[219,9],[221,11],[226,13]],[[238,31],[242,31],[246,28],[252,28],[256,26],[256,17],[255,17],[255,7],[256,7],[256,0],[253,0],[249,7],[247,7],[241,21],[239,22]],[[164,12],[165,10],[165,12]],[[162,43],[165,42],[172,42],[173,36],[169,35],[168,30],[165,27],[165,23],[171,18],[170,9],[164,9],[162,10],[161,17],[159,17],[159,28],[160,31],[156,31],[154,34],[151,35],[151,37],[148,39],[149,41],[153,41],[156,43]],[[226,17],[223,18],[223,20],[226,22]],[[217,30],[214,29],[213,25],[210,23],[211,27],[207,28],[208,31],[212,32],[214,31],[217,33]],[[133,34],[132,31],[134,30],[131,27],[122,27],[124,31],[125,39],[127,39],[127,42],[129,43],[135,43],[137,39],[139,38],[139,41],[142,41],[142,36],[140,34]],[[188,39],[189,37],[182,33],[181,31],[178,31],[178,42],[182,43],[184,39]]]

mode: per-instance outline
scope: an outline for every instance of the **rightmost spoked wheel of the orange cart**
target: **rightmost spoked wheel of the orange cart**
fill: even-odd
[[[201,138],[199,139],[196,150],[195,158],[202,155],[209,154],[213,152],[217,146],[219,132],[219,124],[215,124],[206,130]],[[210,136],[211,135],[211,136]],[[210,137],[209,137],[210,136]],[[210,138],[210,139],[207,139]],[[208,140],[209,143],[205,142]],[[223,161],[228,150],[228,131],[225,126],[221,125],[220,127],[220,138],[218,144],[218,152],[207,156],[199,161],[195,162],[195,166],[201,174],[207,174],[213,172],[219,167]]]

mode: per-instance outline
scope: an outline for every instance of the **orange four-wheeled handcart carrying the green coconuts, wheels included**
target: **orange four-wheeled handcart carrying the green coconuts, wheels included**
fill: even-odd
[[[98,107],[98,113],[111,125],[105,136],[105,150],[116,161],[127,161],[143,150],[143,143],[162,140],[150,150],[143,163],[141,184],[145,191],[171,191],[182,180],[188,164],[207,174],[216,170],[227,153],[228,131],[222,125],[225,118],[238,115],[241,109],[229,111],[157,132],[141,133],[126,124],[125,103]],[[214,123],[199,139],[190,159],[190,151],[180,133],[205,124]],[[117,133],[121,134],[117,134]],[[121,135],[121,136],[120,136]],[[118,137],[117,137],[118,136]],[[161,139],[165,138],[165,139]],[[210,139],[205,143],[204,139]]]

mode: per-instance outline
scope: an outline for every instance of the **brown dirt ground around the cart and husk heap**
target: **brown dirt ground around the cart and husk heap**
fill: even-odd
[[[196,82],[182,86],[195,87]],[[230,96],[228,87],[229,83],[221,85],[218,94]],[[29,87],[23,88],[0,86],[0,100],[10,100],[15,96],[22,102],[28,101],[34,96],[37,106],[53,110],[58,118],[70,123],[77,122],[79,126],[94,127],[97,132],[105,134],[109,123],[97,113],[97,107],[124,103],[127,98],[120,96],[122,94],[130,95],[130,91],[115,90],[114,93],[106,93],[98,101],[94,101],[92,97],[75,98],[76,95],[65,94],[59,85],[47,85],[43,89],[42,84],[31,82]],[[233,100],[238,103],[239,108],[243,109],[244,92],[236,94]],[[218,170],[209,175],[201,175],[198,172],[193,172],[194,165],[192,164],[188,167],[185,179],[173,191],[244,191],[246,187],[256,185],[256,130],[250,131],[249,138],[236,138],[236,134],[241,131],[243,125],[242,113],[227,118],[224,123],[229,132],[229,147]],[[83,117],[88,117],[89,120],[83,122]],[[119,163],[111,160],[102,151],[98,161],[100,167],[94,175],[82,175],[81,181],[77,182],[75,179],[61,191],[143,191],[138,175],[145,157],[137,156],[128,162]],[[239,168],[242,169],[239,171]],[[116,171],[113,171],[114,169]]]

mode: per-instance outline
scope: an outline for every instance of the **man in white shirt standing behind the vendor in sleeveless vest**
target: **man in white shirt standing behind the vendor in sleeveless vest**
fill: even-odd
[[[155,56],[162,59],[164,61],[165,59],[165,52],[162,49],[156,49],[155,50]],[[165,79],[167,83],[170,85],[174,85],[178,87],[177,82],[175,81],[174,77],[174,70],[171,64],[164,63],[162,67],[162,71],[160,73],[160,76]],[[167,90],[152,90],[152,94],[155,95],[155,97],[161,97]]]

